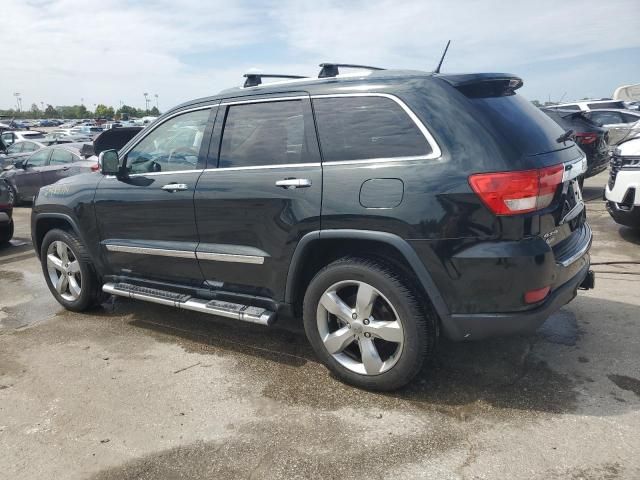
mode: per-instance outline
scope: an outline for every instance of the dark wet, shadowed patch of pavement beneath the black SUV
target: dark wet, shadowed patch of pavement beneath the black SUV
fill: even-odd
[[[132,314],[131,325],[147,329],[159,341],[177,342],[188,352],[233,355],[252,383],[265,385],[263,395],[285,404],[327,411],[347,405],[430,410],[465,421],[476,415],[508,417],[516,415],[510,412],[514,410],[522,416],[576,409],[574,381],[531,354],[535,337],[443,341],[435,360],[407,388],[372,393],[333,378],[315,360],[299,328],[265,329],[161,308],[119,301],[113,315],[126,311]]]

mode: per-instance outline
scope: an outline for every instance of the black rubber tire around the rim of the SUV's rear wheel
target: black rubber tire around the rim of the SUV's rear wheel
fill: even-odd
[[[375,264],[374,264],[375,265]],[[400,358],[393,367],[378,375],[360,375],[342,366],[326,350],[317,327],[317,308],[324,292],[340,281],[356,280],[368,283],[382,293],[396,310],[402,323],[404,344]],[[403,285],[406,288],[406,285]],[[397,281],[382,269],[370,268],[365,262],[335,263],[321,270],[311,281],[305,293],[303,319],[307,338],[316,354],[341,380],[372,390],[392,390],[406,384],[420,370],[424,362],[424,346],[428,342],[427,329],[419,325],[421,312],[401,289]]]

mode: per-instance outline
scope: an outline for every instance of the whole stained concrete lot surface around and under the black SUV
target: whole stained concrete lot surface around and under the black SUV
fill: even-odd
[[[640,233],[587,180],[596,289],[535,334],[442,342],[402,391],[347,387],[265,328],[49,294],[29,209],[0,250],[0,478],[640,478]]]

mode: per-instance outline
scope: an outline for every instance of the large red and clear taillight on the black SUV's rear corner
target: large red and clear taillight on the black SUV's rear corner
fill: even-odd
[[[479,173],[469,177],[469,185],[496,215],[516,215],[551,205],[563,174],[563,165],[536,170]]]

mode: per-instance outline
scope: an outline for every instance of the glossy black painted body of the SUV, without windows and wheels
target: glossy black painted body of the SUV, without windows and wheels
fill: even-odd
[[[118,178],[96,173],[64,180],[69,189],[65,195],[42,189],[32,214],[34,245],[38,248],[47,226],[67,222],[82,237],[104,279],[165,285],[209,298],[250,296],[254,303],[281,310],[300,299],[305,266],[324,251],[323,245],[381,245],[412,270],[450,338],[531,330],[570,301],[586,275],[586,253],[570,267],[560,265],[590,242],[584,214],[560,224],[563,190],[545,210],[496,216],[471,190],[468,177],[555,165],[582,154],[572,142],[557,144],[563,130],[534,107],[527,113],[530,122],[514,123],[505,115],[512,108],[506,107],[507,100],[503,111],[500,98],[489,104],[459,90],[457,85],[476,77],[483,78],[382,71],[234,89],[181,105],[155,125],[176,112],[211,106],[198,170]],[[402,100],[427,127],[441,155],[322,162],[321,145],[313,136],[315,150],[309,155],[314,158],[307,165],[217,168],[226,103],[302,97],[305,121],[313,127],[314,96],[351,92]],[[517,95],[508,101],[529,108]],[[153,128],[132,139],[121,153]],[[312,184],[293,190],[275,186],[291,177]],[[161,190],[171,182],[189,189]],[[107,243],[255,255],[264,263],[111,252]],[[547,285],[552,293],[546,300],[525,304],[524,292]]]

